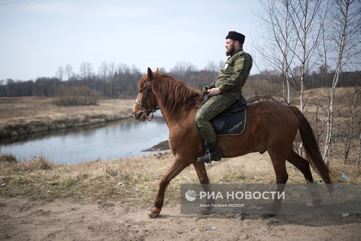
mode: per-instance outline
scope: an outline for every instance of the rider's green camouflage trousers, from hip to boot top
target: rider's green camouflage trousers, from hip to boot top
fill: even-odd
[[[210,120],[235,102],[236,98],[234,96],[220,93],[210,97],[210,99],[199,109],[196,115],[196,122],[205,141],[210,143],[217,140],[216,133],[214,132]]]

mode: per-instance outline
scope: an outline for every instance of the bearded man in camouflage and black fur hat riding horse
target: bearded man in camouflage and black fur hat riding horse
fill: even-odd
[[[230,56],[217,79],[203,89],[203,94],[212,96],[198,111],[197,125],[208,145],[209,153],[199,157],[197,161],[210,163],[220,161],[216,133],[210,120],[235,103],[242,93],[249,72],[252,68],[252,57],[243,51],[245,36],[236,31],[230,31],[226,37],[226,56]]]

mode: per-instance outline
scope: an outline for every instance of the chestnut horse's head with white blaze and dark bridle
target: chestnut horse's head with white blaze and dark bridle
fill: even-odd
[[[158,73],[158,68],[155,73]],[[145,121],[158,106],[157,98],[152,90],[152,79],[153,72],[151,68],[148,68],[148,73],[138,83],[139,94],[132,110],[132,115],[136,120]]]

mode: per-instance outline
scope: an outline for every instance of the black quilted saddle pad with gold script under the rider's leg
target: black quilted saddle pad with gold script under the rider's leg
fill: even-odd
[[[207,102],[209,98],[206,98],[199,109]],[[198,110],[199,110],[198,109]],[[194,115],[194,126],[196,130],[200,132],[197,122],[196,115]],[[239,100],[236,101],[233,105],[231,105],[228,109],[218,114],[210,123],[214,128],[214,132],[216,132],[217,136],[227,136],[227,135],[241,135],[244,131],[245,123],[246,123],[246,114],[247,114],[247,101],[244,99],[241,94]]]

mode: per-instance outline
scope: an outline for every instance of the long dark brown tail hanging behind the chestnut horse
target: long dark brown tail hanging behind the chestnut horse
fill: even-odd
[[[313,134],[312,127],[310,123],[306,119],[306,117],[302,114],[302,112],[296,106],[290,106],[293,113],[295,113],[299,119],[299,130],[303,143],[303,147],[305,148],[306,156],[309,164],[313,169],[316,169],[318,174],[321,176],[324,183],[328,184],[327,189],[330,194],[332,193],[332,185],[331,185],[331,175],[330,170],[326,166],[325,162],[322,160],[321,153],[319,152],[318,144],[316,138]]]

